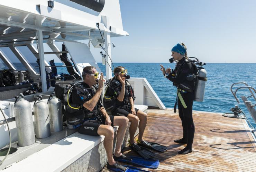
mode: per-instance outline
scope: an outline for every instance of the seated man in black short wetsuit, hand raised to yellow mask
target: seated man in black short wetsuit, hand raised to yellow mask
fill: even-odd
[[[116,135],[117,141],[114,155],[116,157],[120,157],[122,155],[121,144],[125,136],[128,119],[126,117],[108,116],[106,110],[100,102],[100,95],[104,84],[103,73],[101,73],[98,80],[98,88],[95,87],[98,74],[99,72],[97,72],[95,67],[84,67],[82,73],[83,82],[81,84],[77,84],[78,87],[74,86],[72,90],[70,103],[80,105],[85,115],[85,118],[82,120],[80,126],[76,125],[79,126],[77,127],[77,131],[85,135],[105,136],[103,144],[108,157],[107,168],[114,168],[124,171],[126,168],[122,165],[118,165],[113,159],[112,155],[114,138],[113,126],[119,126]],[[68,121],[73,122],[76,120],[68,119]]]

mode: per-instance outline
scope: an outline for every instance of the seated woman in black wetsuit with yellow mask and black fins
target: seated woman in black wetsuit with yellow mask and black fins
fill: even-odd
[[[129,79],[127,76],[127,69],[122,66],[118,66],[114,69],[115,77],[112,78],[109,83],[108,89],[106,90],[105,96],[115,97],[116,102],[111,112],[114,116],[125,116],[131,122],[129,131],[130,131],[130,147],[135,150],[139,155],[144,158],[154,157],[154,152],[151,152],[147,149],[143,149],[139,146],[150,148],[156,151],[164,152],[167,150],[166,147],[162,148],[160,145],[152,145],[143,140],[143,133],[147,125],[147,114],[134,107],[134,96],[131,85],[127,82],[126,79]],[[105,97],[106,98],[106,97]],[[139,121],[140,120],[140,121]],[[134,142],[134,135],[139,127],[139,136],[137,142],[139,146]],[[152,147],[153,146],[153,147]],[[157,148],[156,148],[157,147]],[[159,150],[160,149],[162,150]],[[164,149],[164,151],[163,151]],[[114,159],[117,159],[114,156]]]

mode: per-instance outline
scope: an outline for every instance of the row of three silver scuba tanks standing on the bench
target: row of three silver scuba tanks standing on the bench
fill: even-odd
[[[19,146],[29,146],[35,143],[35,137],[46,138],[51,136],[51,132],[63,130],[61,100],[55,97],[55,93],[49,96],[47,103],[41,95],[35,98],[34,123],[29,101],[22,94],[15,98],[14,115]]]

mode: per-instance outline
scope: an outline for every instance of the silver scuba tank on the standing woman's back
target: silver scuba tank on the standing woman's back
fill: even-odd
[[[195,101],[203,101],[204,97],[204,89],[205,89],[205,83],[207,81],[207,72],[203,67],[198,67],[199,68],[199,76],[198,80],[196,82],[195,90],[194,90],[194,95]]]

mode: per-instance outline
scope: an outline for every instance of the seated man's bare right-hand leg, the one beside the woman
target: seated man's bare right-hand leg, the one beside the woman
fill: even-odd
[[[117,130],[116,150],[114,153],[116,157],[120,157],[122,155],[121,146],[125,137],[125,132],[128,126],[128,122],[129,122],[129,119],[126,117],[119,117],[119,116],[114,117],[114,126],[119,126]]]

